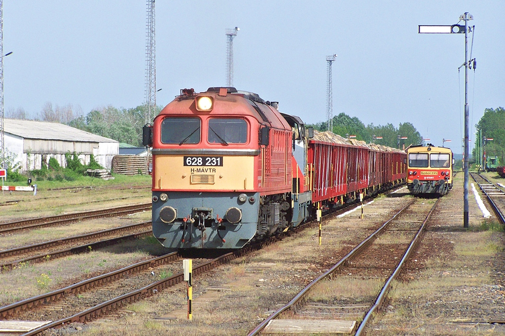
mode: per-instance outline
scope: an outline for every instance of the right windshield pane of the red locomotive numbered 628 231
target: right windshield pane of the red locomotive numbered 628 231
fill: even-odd
[[[208,141],[210,144],[245,144],[247,121],[244,119],[209,119]]]

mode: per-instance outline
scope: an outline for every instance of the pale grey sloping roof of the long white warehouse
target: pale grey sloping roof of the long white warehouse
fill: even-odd
[[[58,122],[5,119],[4,129],[6,133],[24,139],[117,143],[116,140],[100,137]]]

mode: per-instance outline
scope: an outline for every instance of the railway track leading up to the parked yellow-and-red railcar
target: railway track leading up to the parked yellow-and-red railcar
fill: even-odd
[[[372,314],[383,304],[386,293],[391,286],[391,282],[398,276],[401,268],[415,250],[421,239],[420,237],[424,231],[425,224],[438,204],[437,200],[433,206],[426,206],[423,204],[422,211],[413,211],[414,206],[419,208],[422,201],[422,199],[411,201],[391,219],[384,222],[374,233],[335,263],[326,273],[319,276],[301,290],[289,303],[278,308],[254,330],[250,331],[248,336],[258,335],[262,331],[293,331],[294,329],[300,329],[299,325],[307,323],[308,319],[317,320],[317,323],[321,326],[327,322],[324,316],[332,317],[332,321],[329,324],[331,324],[333,328],[335,324],[338,324],[334,322],[335,319],[347,320],[348,323],[343,322],[343,324],[346,325],[349,330],[355,330],[357,327],[356,321],[362,320],[356,332],[357,335],[361,334]],[[420,214],[418,214],[418,212],[420,212]],[[391,237],[396,237],[391,239],[398,239],[401,241],[401,244],[398,244],[399,246],[394,248],[394,251],[384,249],[383,245],[378,242],[379,240],[377,238],[384,237],[386,234]],[[409,239],[407,239],[407,237],[409,237]],[[365,250],[367,251],[366,253],[364,253]],[[371,260],[370,256],[376,256],[375,260]],[[387,275],[377,274],[377,269],[387,273]],[[370,272],[371,270],[375,271]],[[335,281],[337,277],[338,279],[342,278],[342,280],[344,280],[351,274],[353,277],[372,277],[378,279],[383,283],[379,295],[375,296],[375,299],[372,301],[363,302],[357,300],[355,304],[336,300],[332,302],[331,306],[322,306],[318,305],[317,302],[310,301],[309,295],[311,291],[317,291],[318,286],[322,286],[324,281],[329,279]],[[354,321],[349,321],[349,317],[352,317]],[[310,333],[311,331],[308,332]]]

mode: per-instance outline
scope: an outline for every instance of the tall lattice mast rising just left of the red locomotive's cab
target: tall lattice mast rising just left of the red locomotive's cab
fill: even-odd
[[[146,47],[145,47],[145,123],[153,121],[156,113],[156,34],[155,0],[147,0]]]

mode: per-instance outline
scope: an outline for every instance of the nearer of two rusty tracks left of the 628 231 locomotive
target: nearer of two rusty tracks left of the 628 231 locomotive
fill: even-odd
[[[38,244],[0,251],[0,270],[5,272],[24,262],[39,262],[89,249],[110,246],[123,240],[136,239],[152,233],[151,222],[125,225],[83,235],[55,239]],[[107,238],[104,240],[104,238]],[[98,240],[98,241],[97,241]],[[82,244],[85,242],[84,244]],[[33,254],[36,252],[36,254]]]

